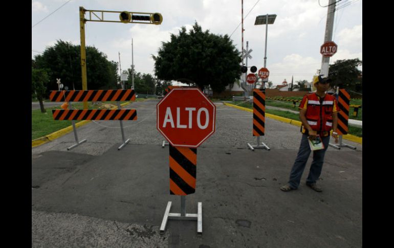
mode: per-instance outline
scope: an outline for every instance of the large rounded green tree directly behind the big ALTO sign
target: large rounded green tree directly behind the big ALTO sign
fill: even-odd
[[[178,80],[191,85],[195,82],[202,90],[210,85],[220,93],[240,76],[241,58],[226,34],[203,32],[195,22],[186,32],[182,27],[178,35],[171,34],[169,42],[162,42],[155,60],[155,75],[161,80]]]

